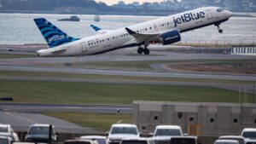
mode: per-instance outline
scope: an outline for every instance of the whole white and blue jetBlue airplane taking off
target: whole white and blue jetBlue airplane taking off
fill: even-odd
[[[34,21],[48,43],[49,49],[40,49],[37,53],[38,56],[97,55],[137,46],[138,54],[148,55],[150,43],[163,45],[177,43],[181,40],[180,33],[183,32],[214,25],[218,27],[218,32],[222,33],[223,30],[219,25],[229,20],[231,16],[232,13],[228,10],[206,7],[111,31],[91,26],[97,34],[81,39],[69,37],[49,21],[39,18]]]

